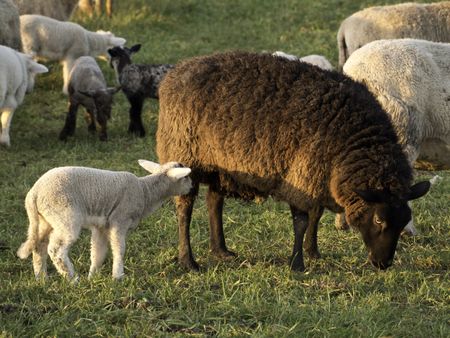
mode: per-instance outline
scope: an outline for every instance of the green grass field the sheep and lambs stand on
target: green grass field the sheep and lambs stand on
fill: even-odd
[[[339,23],[354,11],[399,1],[354,0],[127,0],[114,17],[74,20],[91,30],[111,30],[128,45],[142,43],[136,62],[175,63],[225,50],[323,54],[336,66]],[[111,85],[113,72],[99,61]],[[319,230],[320,260],[307,271],[287,266],[293,233],[287,205],[227,200],[227,244],[238,253],[221,262],[208,254],[208,216],[201,191],[191,227],[200,273],[175,262],[177,225],[168,202],[127,240],[127,277],[111,280],[108,259],[88,281],[89,234],[71,250],[77,285],[49,263],[46,282],[35,281],[31,260],[15,251],[26,237],[27,191],[45,171],[80,165],[145,172],[137,159],[156,160],[158,103],[145,105],[144,139],[126,134],[128,103],[118,94],[108,124],[109,141],[88,135],[81,112],[74,138],[58,140],[67,98],[61,67],[37,79],[12,121],[9,149],[0,148],[0,336],[255,336],[449,337],[450,171],[419,172],[444,179],[414,201],[420,234],[402,238],[387,271],[366,263],[358,234],[339,232],[326,213]]]

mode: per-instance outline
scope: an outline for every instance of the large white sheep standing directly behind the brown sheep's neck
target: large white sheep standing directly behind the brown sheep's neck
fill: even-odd
[[[344,64],[344,73],[364,83],[389,114],[411,164],[450,168],[449,55],[449,43],[378,40]],[[345,228],[343,222],[337,218],[336,226]],[[417,233],[412,223],[405,231]]]

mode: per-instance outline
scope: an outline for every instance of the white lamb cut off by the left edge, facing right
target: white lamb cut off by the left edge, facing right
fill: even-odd
[[[0,144],[10,146],[9,127],[16,108],[25,93],[34,87],[34,77],[48,69],[25,54],[0,46]]]

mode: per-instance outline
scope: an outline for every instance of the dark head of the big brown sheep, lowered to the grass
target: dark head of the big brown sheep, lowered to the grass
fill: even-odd
[[[429,188],[429,181],[420,182],[401,197],[388,190],[355,190],[363,207],[358,213],[346,208],[346,219],[361,232],[374,266],[384,270],[392,265],[400,233],[411,220],[408,201],[422,197]]]

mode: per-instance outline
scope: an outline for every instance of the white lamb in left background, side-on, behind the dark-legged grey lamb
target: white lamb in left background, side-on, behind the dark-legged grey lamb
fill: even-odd
[[[37,59],[60,61],[64,87],[68,93],[69,72],[80,56],[107,56],[108,48],[122,46],[126,40],[111,32],[91,32],[73,22],[63,22],[41,15],[21,15],[23,49]]]

